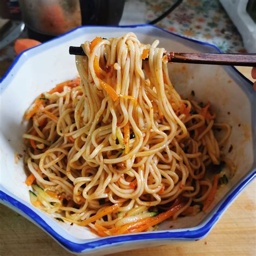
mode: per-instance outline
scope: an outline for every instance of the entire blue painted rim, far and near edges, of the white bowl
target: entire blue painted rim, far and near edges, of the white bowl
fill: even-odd
[[[158,28],[157,26],[154,26],[154,25],[143,24],[143,25],[105,26],[105,27],[110,27],[110,28],[137,28],[137,27],[140,27],[140,26],[151,26],[153,28],[156,28],[156,29],[162,30],[164,32],[170,33],[171,35],[186,39],[187,41],[195,42],[195,43],[202,44],[202,45],[211,46],[212,48],[218,50],[221,53],[221,50],[213,44],[197,41],[196,39],[187,38],[187,37],[184,37],[184,36],[180,36],[180,35],[177,35],[176,33]],[[53,38],[50,41],[53,41],[53,40],[56,40],[57,38],[68,35],[69,33],[72,33],[72,32],[74,32],[78,29],[87,28],[87,27],[95,27],[95,26],[80,26],[76,29],[73,29],[69,32],[64,33],[63,35],[60,35],[56,38]],[[48,41],[48,42],[50,42],[50,41]],[[47,44],[48,42],[45,42],[43,44]],[[40,45],[35,46],[33,48],[36,48],[36,47],[39,47],[39,46]],[[16,59],[14,60],[14,63],[12,63],[12,65],[10,66],[8,71],[6,71],[4,76],[0,79],[0,83],[2,83],[4,81],[4,79],[6,77],[8,77],[9,73],[11,73],[11,70],[17,64],[19,58],[21,58],[21,56],[24,55],[24,53],[27,52],[27,51],[30,51],[30,49],[20,53],[16,57]],[[242,75],[237,69],[235,69],[234,67],[233,67],[233,69],[243,79],[245,79],[246,82],[248,82],[250,84],[253,84],[249,79],[247,79],[244,75]],[[146,232],[146,233],[139,233],[139,234],[132,234],[132,235],[120,235],[120,236],[114,236],[114,237],[99,238],[99,239],[96,239],[96,240],[94,239],[93,241],[88,241],[88,242],[81,243],[81,244],[78,244],[76,242],[72,242],[72,241],[62,237],[62,235],[60,235],[55,230],[53,230],[53,228],[51,226],[49,226],[36,212],[34,212],[28,206],[24,205],[23,203],[16,200],[15,198],[12,198],[8,194],[4,193],[3,191],[0,191],[0,199],[3,200],[3,201],[6,201],[7,203],[11,204],[15,208],[18,208],[19,210],[21,210],[25,215],[27,215],[30,219],[32,219],[39,226],[41,226],[43,228],[43,230],[45,230],[53,238],[55,238],[60,244],[62,244],[66,249],[68,249],[69,251],[74,252],[74,253],[81,253],[81,252],[90,252],[90,251],[96,250],[98,248],[100,249],[101,247],[112,246],[114,244],[120,244],[120,243],[127,242],[127,241],[132,242],[132,241],[156,240],[156,239],[161,239],[161,240],[163,240],[163,239],[176,239],[176,240],[198,240],[198,239],[201,239],[201,238],[205,237],[205,235],[207,235],[208,232],[210,232],[211,228],[214,226],[215,223],[217,223],[218,219],[224,213],[227,206],[232,203],[234,198],[237,197],[238,194],[244,189],[244,187],[247,186],[255,177],[256,177],[256,169],[254,168],[254,169],[251,170],[251,172],[249,174],[247,174],[246,177],[242,178],[242,180],[240,180],[240,182],[236,186],[234,186],[232,192],[228,192],[226,194],[225,198],[223,200],[221,200],[221,202],[217,206],[215,206],[215,208],[212,210],[212,211],[214,211],[214,213],[212,214],[212,217],[208,221],[207,221],[207,218],[206,218],[206,220],[204,220],[203,223],[201,224],[201,227],[199,227],[198,229],[186,230],[186,231],[174,231],[174,232],[170,232],[170,231],[157,231],[156,232],[155,231],[155,232]]]

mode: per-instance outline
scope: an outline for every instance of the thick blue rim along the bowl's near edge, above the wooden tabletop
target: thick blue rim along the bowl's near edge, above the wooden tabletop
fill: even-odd
[[[22,204],[20,201],[15,198],[10,197],[8,194],[0,191],[0,200],[6,201],[12,206],[21,210],[24,214],[26,214],[30,219],[35,221],[39,226],[43,228],[47,233],[49,233],[53,238],[55,238],[61,245],[63,245],[67,250],[73,253],[82,253],[82,252],[92,252],[95,249],[100,249],[102,247],[109,247],[115,244],[122,244],[124,242],[133,242],[133,241],[144,241],[144,240],[157,240],[157,239],[169,239],[169,240],[199,240],[205,237],[208,232],[211,231],[212,227],[217,223],[218,219],[225,212],[228,205],[232,203],[235,197],[256,177],[256,169],[252,170],[250,174],[248,174],[235,188],[231,193],[226,195],[226,198],[222,203],[219,203],[217,206],[217,210],[215,210],[214,214],[210,218],[210,220],[203,221],[202,227],[194,230],[186,230],[186,231],[154,231],[154,232],[145,232],[138,233],[132,235],[119,235],[107,238],[99,238],[94,239],[93,241],[88,241],[82,244],[78,244],[76,242],[72,242],[68,239],[65,239],[57,233],[53,228],[48,225],[36,212],[34,212],[28,206]]]

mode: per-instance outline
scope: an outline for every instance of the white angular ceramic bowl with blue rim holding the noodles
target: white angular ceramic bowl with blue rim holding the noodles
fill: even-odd
[[[29,188],[22,159],[15,164],[15,153],[23,154],[22,134],[25,110],[43,91],[57,83],[76,77],[75,57],[70,45],[91,41],[96,36],[117,37],[132,31],[143,43],[160,40],[160,46],[176,52],[219,52],[213,45],[187,39],[150,25],[75,29],[52,41],[23,52],[1,80],[1,176],[0,200],[31,220],[73,253],[107,254],[140,247],[170,244],[174,240],[203,238],[241,190],[255,177],[256,166],[256,92],[233,67],[172,64],[170,77],[177,91],[187,96],[194,90],[196,98],[210,100],[217,120],[232,125],[232,135],[225,152],[237,165],[228,185],[219,191],[208,214],[165,221],[159,231],[98,238],[87,228],[59,223],[51,215],[30,204]],[[254,102],[254,104],[253,104]],[[230,114],[228,114],[230,112]],[[240,124],[240,125],[239,125]],[[228,148],[233,150],[228,153]],[[170,229],[170,225],[173,225]]]

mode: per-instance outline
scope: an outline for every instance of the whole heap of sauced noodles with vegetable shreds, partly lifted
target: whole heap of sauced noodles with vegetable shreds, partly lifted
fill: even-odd
[[[223,161],[234,172],[221,151],[231,127],[215,123],[210,103],[181,99],[158,43],[133,33],[85,42],[80,78],[25,113],[33,205],[100,236],[154,230],[211,205],[227,181]],[[214,129],[225,131],[219,141]]]

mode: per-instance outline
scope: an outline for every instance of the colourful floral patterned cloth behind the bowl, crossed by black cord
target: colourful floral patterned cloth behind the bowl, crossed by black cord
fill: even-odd
[[[122,24],[148,23],[163,14],[176,0],[126,0],[130,20]],[[144,7],[145,11],[141,9]],[[135,19],[134,16],[139,16]],[[170,15],[156,24],[179,35],[217,45],[223,52],[245,52],[242,38],[218,0],[183,0]]]

